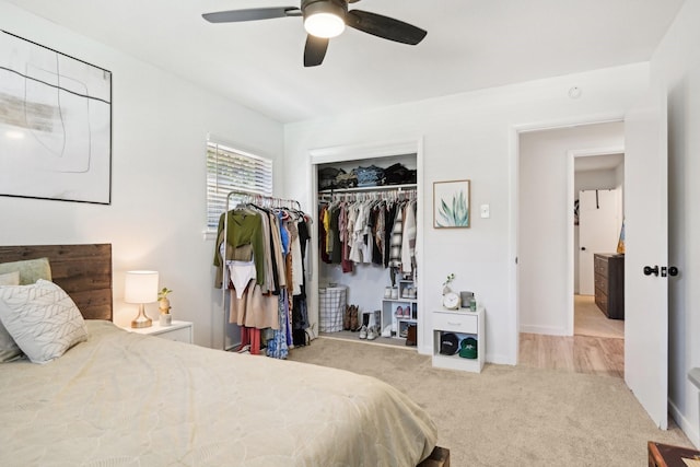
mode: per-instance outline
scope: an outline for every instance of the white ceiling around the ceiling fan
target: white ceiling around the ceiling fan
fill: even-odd
[[[362,0],[350,10],[399,19],[428,36],[412,47],[348,28],[320,67],[304,68],[300,17],[201,17],[300,0],[8,1],[282,122],[646,61],[684,2]]]

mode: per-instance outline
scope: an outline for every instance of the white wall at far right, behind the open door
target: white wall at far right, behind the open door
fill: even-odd
[[[651,61],[654,85],[668,93],[669,279],[668,397],[674,419],[700,446],[698,389],[687,373],[700,366],[700,2],[687,1]]]

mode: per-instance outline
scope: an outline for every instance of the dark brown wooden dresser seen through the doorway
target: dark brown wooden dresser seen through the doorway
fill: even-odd
[[[625,255],[593,255],[595,304],[608,318],[625,319]]]

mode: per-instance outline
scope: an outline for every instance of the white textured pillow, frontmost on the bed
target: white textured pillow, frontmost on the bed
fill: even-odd
[[[88,339],[78,306],[54,282],[0,288],[0,320],[34,363],[47,363]]]

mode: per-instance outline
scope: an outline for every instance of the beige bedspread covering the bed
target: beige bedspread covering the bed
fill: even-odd
[[[375,378],[88,323],[54,362],[0,364],[0,465],[402,467],[435,445]]]

